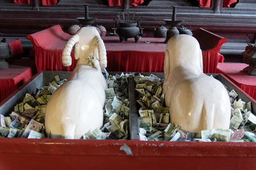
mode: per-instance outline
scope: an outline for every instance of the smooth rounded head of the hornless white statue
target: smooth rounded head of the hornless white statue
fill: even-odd
[[[200,45],[193,36],[186,34],[173,36],[166,45],[164,57],[164,94],[167,88],[170,88],[170,79],[178,80],[182,78],[180,76],[173,78],[173,76],[177,75],[175,72],[179,73],[180,69],[184,72],[188,71],[195,76],[203,73],[203,59]],[[168,106],[168,104],[166,105]]]

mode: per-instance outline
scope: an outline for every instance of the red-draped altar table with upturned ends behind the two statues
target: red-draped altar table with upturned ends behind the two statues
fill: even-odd
[[[64,67],[61,61],[61,53],[68,38],[70,35],[63,32],[60,25],[27,36],[35,48],[37,71],[74,69],[74,57],[70,67]],[[102,39],[107,50],[108,71],[163,72],[166,48],[164,38],[141,38],[138,43],[134,43],[134,38],[120,43],[118,36],[105,36]],[[215,73],[218,62],[223,60],[220,53],[213,50],[203,51],[204,73]]]

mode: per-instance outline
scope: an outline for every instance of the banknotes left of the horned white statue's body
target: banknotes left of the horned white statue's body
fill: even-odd
[[[8,117],[0,115],[0,136],[8,138],[45,138],[44,117],[46,104],[64,80],[59,76],[49,86],[37,89],[34,96],[26,94],[22,103],[16,104]]]

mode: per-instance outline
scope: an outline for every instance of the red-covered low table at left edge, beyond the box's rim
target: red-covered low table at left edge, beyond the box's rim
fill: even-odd
[[[10,66],[0,70],[0,102],[32,76],[30,67]]]

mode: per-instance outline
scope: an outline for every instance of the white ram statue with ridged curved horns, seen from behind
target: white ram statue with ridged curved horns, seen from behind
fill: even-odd
[[[79,139],[103,124],[102,107],[108,87],[100,67],[107,66],[106,48],[95,27],[82,27],[63,49],[63,66],[77,65],[47,104],[45,130],[50,138]]]

